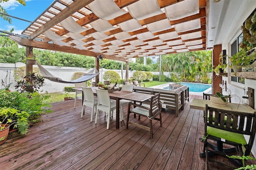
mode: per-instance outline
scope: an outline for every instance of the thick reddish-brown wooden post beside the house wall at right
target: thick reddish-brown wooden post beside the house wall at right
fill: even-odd
[[[213,46],[212,50],[212,66],[214,68],[219,64],[219,56],[222,51],[221,45]],[[212,70],[212,94],[216,94],[220,89],[220,84],[222,83],[222,76],[217,76],[214,72],[214,68]]]

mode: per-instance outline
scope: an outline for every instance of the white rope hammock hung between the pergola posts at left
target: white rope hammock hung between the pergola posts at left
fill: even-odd
[[[84,74],[84,76],[76,79],[76,80],[72,80],[70,82],[68,81],[64,81],[61,78],[55,77],[54,75],[52,75],[50,72],[48,72],[45,68],[43,68],[43,66],[41,66],[38,62],[36,62],[39,71],[41,72],[42,76],[52,82],[59,82],[59,83],[81,83],[81,82],[85,82],[88,81],[92,78],[94,78],[95,76],[97,76],[98,74],[100,74],[100,72],[98,72],[98,70],[96,70],[96,68],[94,68],[93,70],[91,70],[90,72]]]

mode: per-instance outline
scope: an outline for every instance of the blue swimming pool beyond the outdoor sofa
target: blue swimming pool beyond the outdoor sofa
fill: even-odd
[[[212,84],[202,84],[202,83],[181,83],[182,85],[186,85],[189,87],[189,93],[202,96],[204,93],[211,93],[212,91]],[[169,90],[169,84],[164,84],[163,89]],[[166,86],[168,85],[168,86]]]

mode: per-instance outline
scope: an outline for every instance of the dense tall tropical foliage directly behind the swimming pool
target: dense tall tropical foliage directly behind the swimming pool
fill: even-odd
[[[159,60],[158,60],[159,62]],[[161,58],[162,70],[181,82],[209,83],[212,72],[212,53],[206,51],[166,54]],[[158,70],[159,71],[159,68]]]

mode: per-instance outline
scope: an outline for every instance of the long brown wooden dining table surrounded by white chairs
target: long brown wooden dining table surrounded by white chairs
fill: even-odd
[[[97,96],[96,89],[98,87],[91,87],[92,92]],[[74,90],[83,91],[82,88],[73,88]],[[139,92],[128,92],[124,90],[108,92],[110,99],[116,100],[116,128],[119,129],[119,104],[121,99],[131,100],[134,102],[144,102],[153,96],[152,94],[145,94]],[[82,103],[84,100],[84,93],[82,93]]]

